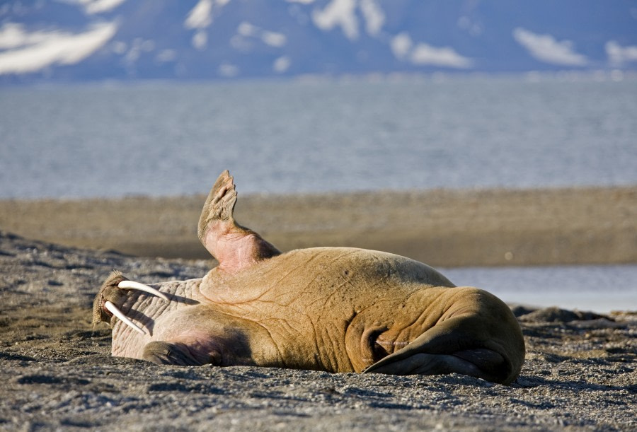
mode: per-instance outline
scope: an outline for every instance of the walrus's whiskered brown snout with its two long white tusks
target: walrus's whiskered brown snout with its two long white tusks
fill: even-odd
[[[93,327],[100,322],[110,322],[113,315],[119,318],[125,325],[131,327],[139,334],[147,334],[142,328],[132,322],[120,307],[126,300],[131,290],[144,291],[153,294],[163,300],[169,301],[166,294],[152,288],[151,286],[140,284],[139,282],[126,279],[121,272],[113,270],[102,284],[93,300]]]

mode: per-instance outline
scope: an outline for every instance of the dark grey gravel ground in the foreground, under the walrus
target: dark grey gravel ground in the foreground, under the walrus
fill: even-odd
[[[209,262],[142,259],[0,235],[0,428],[624,430],[637,428],[637,313],[514,307],[527,342],[510,386],[461,375],[156,366],[110,356],[91,300],[110,269],[142,281]]]

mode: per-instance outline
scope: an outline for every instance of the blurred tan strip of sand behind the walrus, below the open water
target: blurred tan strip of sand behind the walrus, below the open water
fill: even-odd
[[[0,200],[0,228],[130,255],[208,258],[205,197]],[[239,223],[281,250],[340,245],[440,267],[637,262],[637,186],[241,195]]]

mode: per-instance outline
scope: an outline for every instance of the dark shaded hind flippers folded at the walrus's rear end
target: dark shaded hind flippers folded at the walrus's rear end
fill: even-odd
[[[459,326],[459,320],[464,318],[452,318],[435,325],[363,372],[391,375],[460,373],[502,384],[515,380],[517,372],[512,370],[510,361],[495,349],[486,347],[490,342],[481,340],[476,334],[480,323],[465,322],[464,326]],[[468,331],[463,332],[461,327]]]

